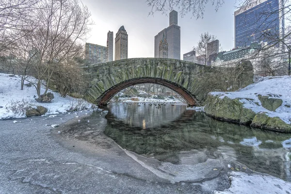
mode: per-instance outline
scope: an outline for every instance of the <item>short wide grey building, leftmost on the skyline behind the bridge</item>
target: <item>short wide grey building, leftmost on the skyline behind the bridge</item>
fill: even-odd
[[[107,54],[107,47],[91,43],[85,44],[85,59],[92,63],[106,63],[108,59]]]

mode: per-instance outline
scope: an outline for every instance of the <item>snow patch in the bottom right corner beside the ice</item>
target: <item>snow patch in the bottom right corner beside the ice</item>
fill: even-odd
[[[214,194],[291,194],[291,183],[280,178],[231,172],[230,188]]]

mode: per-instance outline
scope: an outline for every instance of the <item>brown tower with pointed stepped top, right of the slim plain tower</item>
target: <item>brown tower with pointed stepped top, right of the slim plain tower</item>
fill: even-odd
[[[128,34],[121,26],[115,36],[115,60],[128,58]]]

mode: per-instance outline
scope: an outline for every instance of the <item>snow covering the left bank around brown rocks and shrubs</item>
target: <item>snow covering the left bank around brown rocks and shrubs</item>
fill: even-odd
[[[25,81],[24,84],[28,82]],[[42,92],[45,91],[45,87],[42,86]],[[49,90],[48,92],[53,93],[54,99],[51,103],[39,103],[35,101],[36,90],[33,86],[27,87],[24,86],[23,90],[21,90],[20,78],[0,73],[0,119],[6,118],[23,118],[25,117],[25,113],[13,113],[9,106],[11,103],[20,103],[24,101],[25,104],[32,103],[34,107],[43,106],[48,109],[47,114],[57,114],[57,113],[65,113],[69,111],[71,108],[74,109],[76,106],[81,107],[82,109],[88,109],[92,107],[92,104],[86,102],[85,100],[73,98],[73,97],[61,97],[60,94],[52,92]]]

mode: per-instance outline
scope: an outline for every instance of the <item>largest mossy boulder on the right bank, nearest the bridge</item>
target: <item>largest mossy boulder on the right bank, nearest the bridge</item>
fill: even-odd
[[[204,112],[216,119],[249,125],[252,123],[256,113],[244,108],[240,98],[220,98],[209,94],[206,99]]]

